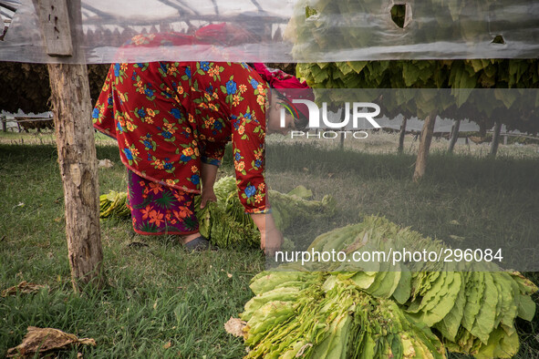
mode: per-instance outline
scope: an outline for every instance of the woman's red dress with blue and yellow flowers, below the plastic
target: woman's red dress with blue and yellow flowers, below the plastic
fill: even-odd
[[[113,64],[92,117],[118,140],[128,169],[188,193],[200,193],[202,163],[219,166],[232,140],[245,211],[264,213],[268,95],[267,83],[244,63]]]

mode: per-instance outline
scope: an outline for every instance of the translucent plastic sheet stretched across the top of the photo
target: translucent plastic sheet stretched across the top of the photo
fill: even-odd
[[[0,31],[0,61],[539,56],[539,2],[534,0],[82,0],[75,54],[66,58],[47,56],[32,0],[0,0],[0,15],[8,26],[4,36]],[[142,42],[140,34],[153,33],[168,36],[141,46],[130,40],[139,35],[134,42]]]

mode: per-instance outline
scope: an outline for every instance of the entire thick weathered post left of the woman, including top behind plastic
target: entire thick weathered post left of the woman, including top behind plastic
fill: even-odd
[[[77,46],[65,43],[80,36],[76,27],[81,23],[80,0],[70,0],[68,3],[67,0],[38,0],[36,10],[43,34],[47,36],[48,55],[78,55]],[[51,21],[54,36],[45,30],[51,26]],[[86,64],[48,64],[48,72],[58,162],[64,185],[71,282],[78,292],[81,284],[92,282],[100,287],[105,282],[99,228],[98,163],[91,121],[88,69]]]

